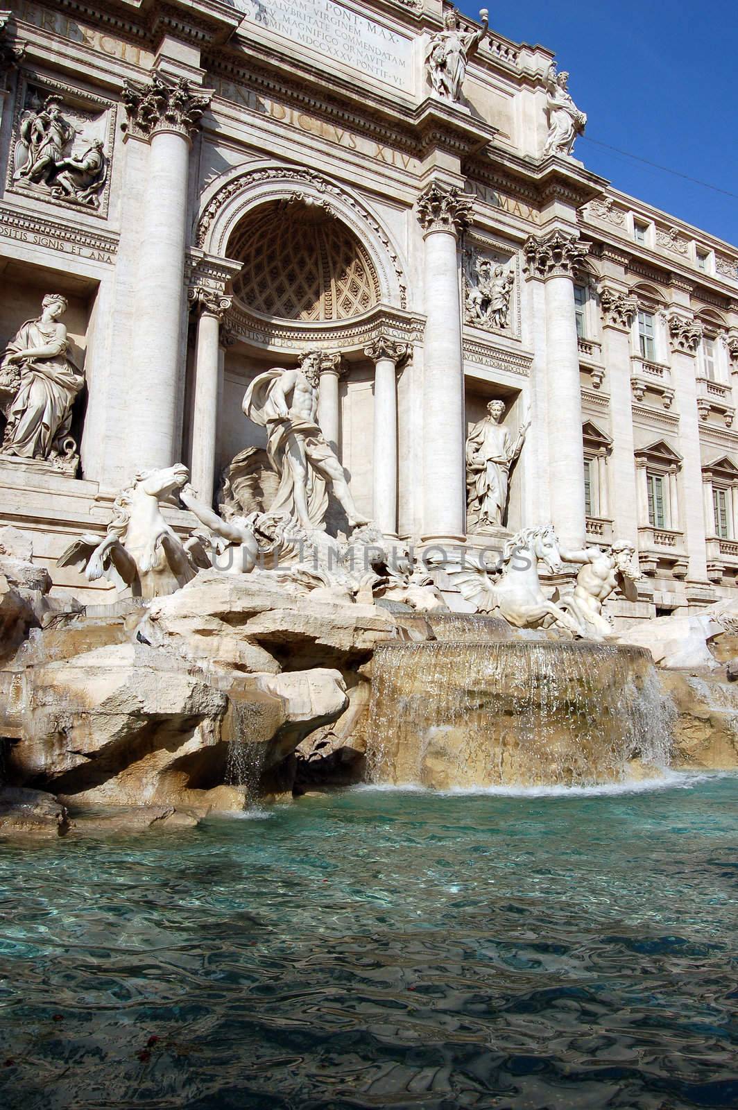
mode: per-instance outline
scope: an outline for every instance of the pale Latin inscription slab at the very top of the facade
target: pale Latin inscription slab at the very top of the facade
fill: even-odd
[[[259,27],[310,47],[331,61],[412,88],[411,40],[334,0],[234,0],[234,4]]]

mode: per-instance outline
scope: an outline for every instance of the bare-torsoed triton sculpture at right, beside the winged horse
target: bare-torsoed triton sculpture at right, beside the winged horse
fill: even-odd
[[[566,563],[577,563],[582,566],[574,593],[559,602],[562,608],[579,623],[582,635],[588,639],[606,639],[614,636],[613,623],[603,613],[603,605],[618,586],[627,601],[638,601],[636,548],[629,541],[619,539],[613,544],[609,552],[596,546],[576,552],[562,548],[560,555]]]

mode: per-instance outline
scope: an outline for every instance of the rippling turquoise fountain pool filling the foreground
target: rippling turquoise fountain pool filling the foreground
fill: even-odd
[[[737,803],[364,788],[3,845],[0,1102],[735,1106]]]

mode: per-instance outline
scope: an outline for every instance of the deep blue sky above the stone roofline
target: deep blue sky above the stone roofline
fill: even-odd
[[[738,194],[738,0],[461,0],[572,74],[588,115],[575,154],[617,189],[738,245],[738,196],[589,142],[617,147]]]

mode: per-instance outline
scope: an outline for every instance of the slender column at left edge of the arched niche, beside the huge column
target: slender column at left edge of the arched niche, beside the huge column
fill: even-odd
[[[191,475],[192,485],[196,490],[200,501],[210,505],[215,484],[221,323],[231,307],[231,297],[220,296],[205,289],[192,289],[190,290],[190,302],[198,314]]]

